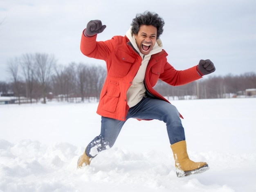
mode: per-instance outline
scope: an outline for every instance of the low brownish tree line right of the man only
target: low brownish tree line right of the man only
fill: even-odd
[[[245,95],[245,90],[256,88],[256,73],[242,75],[209,76],[183,86],[169,87],[159,81],[155,87],[169,99],[215,99]]]

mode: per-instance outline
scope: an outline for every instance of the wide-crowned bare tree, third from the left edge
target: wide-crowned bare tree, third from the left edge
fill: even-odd
[[[43,103],[46,104],[46,87],[51,78],[52,70],[56,65],[56,59],[54,55],[36,53],[35,65],[36,77],[42,90]]]

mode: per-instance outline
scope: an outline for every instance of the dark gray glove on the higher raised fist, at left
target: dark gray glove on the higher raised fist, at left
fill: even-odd
[[[92,37],[98,33],[101,33],[106,28],[106,25],[101,24],[101,20],[91,20],[88,22],[84,31],[85,36]]]

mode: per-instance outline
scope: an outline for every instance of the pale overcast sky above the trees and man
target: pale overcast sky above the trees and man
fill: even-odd
[[[108,40],[146,10],[164,19],[160,38],[177,70],[210,59],[212,75],[256,72],[256,0],[0,0],[0,81],[9,80],[7,62],[26,53],[103,65],[80,51],[86,24],[101,20],[107,28],[97,40]]]

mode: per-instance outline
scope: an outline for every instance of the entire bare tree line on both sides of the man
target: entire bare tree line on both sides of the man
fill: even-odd
[[[24,54],[8,61],[9,82],[0,82],[2,96],[14,95],[18,103],[46,103],[47,99],[84,102],[99,99],[106,78],[106,66],[72,62],[56,63],[54,55]],[[184,86],[169,86],[159,80],[155,89],[169,99],[209,99],[243,95],[245,89],[256,88],[256,73],[210,76]]]

